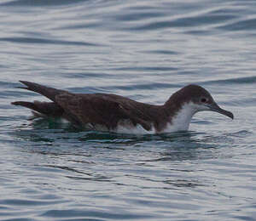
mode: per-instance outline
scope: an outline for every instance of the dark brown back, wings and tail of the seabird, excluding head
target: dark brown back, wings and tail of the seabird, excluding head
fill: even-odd
[[[158,118],[166,117],[167,113],[157,105],[148,105],[115,94],[72,94],[64,90],[45,87],[43,85],[20,81],[27,90],[37,92],[53,102],[16,101],[12,105],[25,106],[45,116],[63,117],[76,126],[96,127],[102,125],[108,130],[117,127],[120,121],[129,120],[132,125],[141,124],[150,130],[163,127]],[[19,87],[22,88],[22,87]]]

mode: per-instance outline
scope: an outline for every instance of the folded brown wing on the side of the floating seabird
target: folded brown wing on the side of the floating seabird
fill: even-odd
[[[127,99],[128,100],[128,99]],[[130,120],[134,126],[141,124],[146,130],[151,124],[145,121],[134,105],[119,102],[100,94],[58,94],[55,102],[81,125],[90,124],[94,127],[103,125],[108,129],[117,127],[119,121]],[[129,103],[129,102],[128,102]]]

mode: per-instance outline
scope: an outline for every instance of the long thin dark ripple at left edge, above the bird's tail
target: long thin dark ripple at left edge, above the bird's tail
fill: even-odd
[[[90,42],[71,42],[63,40],[52,40],[33,37],[0,37],[0,42],[15,42],[15,43],[36,43],[36,44],[55,44],[55,45],[76,45],[76,46],[102,46],[100,44]]]

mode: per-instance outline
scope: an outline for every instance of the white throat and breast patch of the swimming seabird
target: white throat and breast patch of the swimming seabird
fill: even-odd
[[[167,123],[164,133],[188,130],[192,116],[194,116],[197,111],[201,111],[199,105],[195,105],[192,102],[185,103],[182,108],[177,111],[177,114],[172,116],[172,121]]]

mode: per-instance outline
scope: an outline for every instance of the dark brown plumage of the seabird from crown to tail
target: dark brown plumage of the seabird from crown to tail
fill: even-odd
[[[140,124],[146,131],[154,127],[155,133],[160,133],[167,123],[172,124],[172,117],[185,103],[200,102],[202,96],[207,97],[207,102],[215,103],[207,90],[196,85],[172,94],[165,105],[148,105],[115,94],[73,94],[34,82],[20,82],[26,85],[24,89],[42,94],[52,102],[16,101],[12,105],[25,106],[44,116],[62,117],[75,126],[90,129],[104,127],[113,131],[118,125],[136,127]]]

